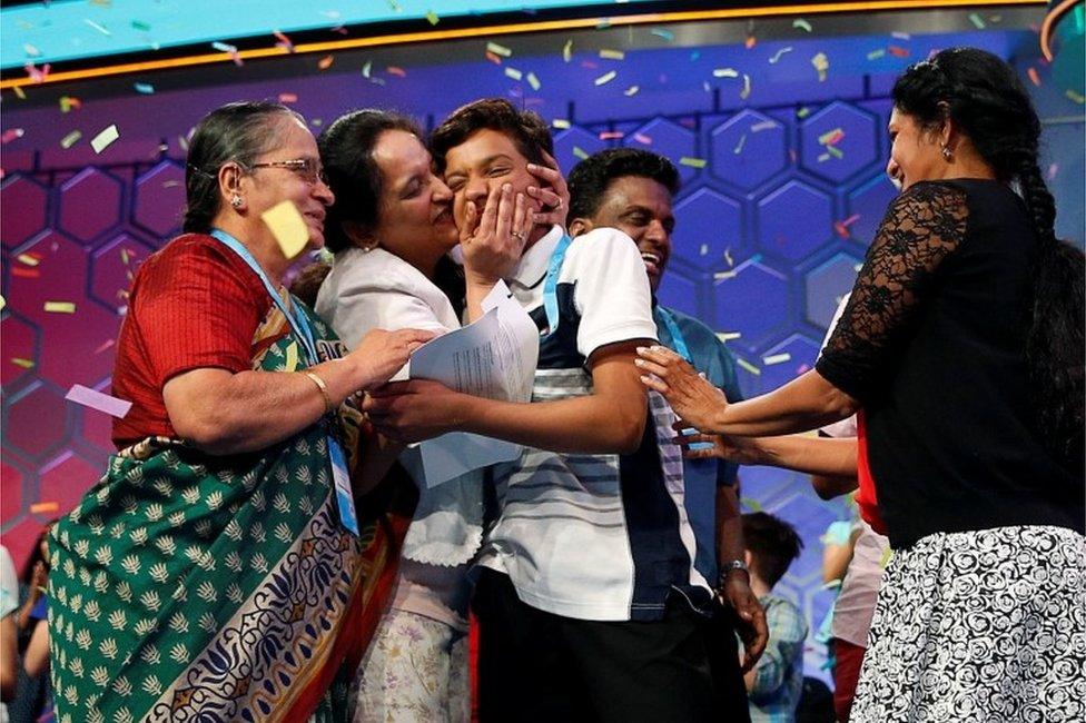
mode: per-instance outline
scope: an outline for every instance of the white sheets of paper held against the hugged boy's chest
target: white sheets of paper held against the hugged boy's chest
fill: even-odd
[[[540,355],[535,324],[505,284],[483,300],[482,318],[415,350],[411,377],[434,379],[451,389],[490,399],[529,402]],[[501,439],[453,432],[421,445],[426,484],[435,487],[471,469],[510,462],[521,446]]]

